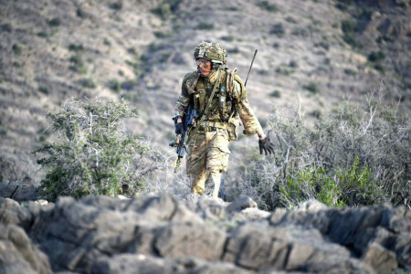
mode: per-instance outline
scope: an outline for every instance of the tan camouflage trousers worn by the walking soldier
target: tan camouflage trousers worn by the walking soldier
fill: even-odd
[[[196,133],[188,144],[186,164],[191,192],[218,196],[221,176],[227,170],[229,155],[226,130]]]

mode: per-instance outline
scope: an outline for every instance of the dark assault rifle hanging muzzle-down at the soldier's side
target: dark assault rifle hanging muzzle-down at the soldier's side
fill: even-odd
[[[174,173],[177,173],[177,168],[180,167],[181,159],[184,158],[185,154],[185,138],[187,137],[188,132],[191,127],[195,124],[197,119],[197,111],[193,110],[192,104],[188,105],[187,110],[184,113],[183,117],[183,129],[184,133],[177,134],[174,142],[170,142],[171,147],[177,148],[177,160],[174,163]]]

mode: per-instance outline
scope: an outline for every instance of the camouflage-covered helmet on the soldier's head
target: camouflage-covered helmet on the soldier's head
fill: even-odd
[[[215,64],[227,65],[227,51],[215,42],[201,42],[195,47],[194,58],[205,58]]]

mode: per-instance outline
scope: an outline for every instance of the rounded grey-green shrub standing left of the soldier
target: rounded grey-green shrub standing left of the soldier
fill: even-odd
[[[135,195],[154,170],[161,153],[129,136],[122,120],[135,114],[121,101],[70,99],[60,111],[47,114],[57,141],[36,153],[47,169],[40,190],[47,200],[59,195]]]

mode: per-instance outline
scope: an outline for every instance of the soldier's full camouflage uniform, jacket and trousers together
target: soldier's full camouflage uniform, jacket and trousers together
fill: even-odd
[[[197,71],[186,74],[175,104],[174,117],[183,117],[190,102],[194,103],[198,113],[202,113],[216,84],[216,93],[209,111],[204,114],[204,121],[197,132],[193,132],[194,127],[189,132],[186,172],[190,176],[191,192],[194,194],[218,195],[221,175],[227,170],[230,154],[228,143],[237,140],[240,120],[244,124],[245,134],[263,132],[248,104],[242,80],[227,68],[220,68],[219,74],[218,81],[216,69],[207,77],[200,76]]]

